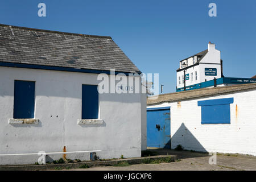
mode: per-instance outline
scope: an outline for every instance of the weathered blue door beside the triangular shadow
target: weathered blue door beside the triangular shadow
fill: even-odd
[[[171,148],[170,107],[147,109],[147,147]]]

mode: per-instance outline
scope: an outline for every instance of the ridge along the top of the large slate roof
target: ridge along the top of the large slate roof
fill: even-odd
[[[89,35],[89,34],[77,34],[77,33],[71,33],[71,32],[61,32],[61,31],[54,31],[54,30],[44,30],[39,28],[29,28],[29,27],[20,27],[20,26],[13,26],[10,24],[1,24],[2,27],[11,27],[11,28],[21,28],[24,30],[34,30],[34,31],[42,31],[42,32],[52,32],[56,34],[66,34],[66,35],[79,35],[79,36],[86,36],[89,38],[105,38],[105,39],[112,39],[111,36],[102,36],[102,35]]]

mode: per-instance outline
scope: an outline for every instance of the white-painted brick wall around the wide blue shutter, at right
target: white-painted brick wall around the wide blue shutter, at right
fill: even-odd
[[[186,150],[256,156],[255,96],[256,90],[251,90],[147,108],[171,107],[171,148],[181,144]],[[201,125],[201,106],[197,106],[197,101],[230,97],[234,98],[230,104],[230,124]]]

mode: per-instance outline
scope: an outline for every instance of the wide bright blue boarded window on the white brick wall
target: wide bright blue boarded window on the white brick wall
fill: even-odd
[[[198,101],[201,106],[201,124],[230,124],[230,104],[234,98]]]

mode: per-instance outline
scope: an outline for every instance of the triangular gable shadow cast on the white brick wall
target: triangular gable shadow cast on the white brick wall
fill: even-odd
[[[207,137],[207,136],[205,136]],[[197,140],[191,131],[182,123],[179,129],[176,131],[171,138],[171,148],[174,149],[177,145],[181,144],[184,150],[192,150],[199,152],[207,152],[205,148],[201,145],[199,140]]]

